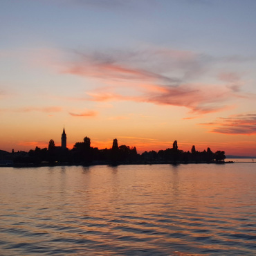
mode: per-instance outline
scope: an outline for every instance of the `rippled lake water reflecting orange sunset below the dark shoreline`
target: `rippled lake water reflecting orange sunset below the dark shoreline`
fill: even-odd
[[[0,168],[0,255],[256,255],[256,164]]]

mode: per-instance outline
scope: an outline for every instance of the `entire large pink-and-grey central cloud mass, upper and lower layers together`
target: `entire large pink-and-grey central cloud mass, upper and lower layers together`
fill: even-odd
[[[247,98],[244,81],[236,72],[223,72],[216,83],[195,82],[208,73],[217,60],[209,55],[167,48],[138,51],[75,51],[73,62],[62,73],[93,77],[104,85],[86,91],[80,100],[150,102],[187,107],[195,113],[226,109],[236,98]],[[108,84],[108,87],[106,87]]]

